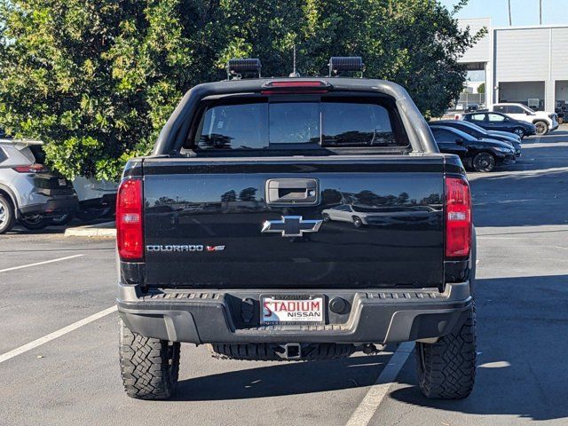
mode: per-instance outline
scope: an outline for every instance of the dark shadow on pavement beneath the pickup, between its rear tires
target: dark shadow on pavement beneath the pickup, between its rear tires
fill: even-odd
[[[205,375],[179,382],[174,400],[267,398],[370,386],[389,359],[390,355],[379,354],[330,361],[284,361]]]

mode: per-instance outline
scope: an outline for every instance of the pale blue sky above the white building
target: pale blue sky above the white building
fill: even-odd
[[[457,0],[439,0],[452,9]],[[511,0],[513,26],[539,25],[539,0]],[[508,0],[469,0],[458,18],[491,18],[492,27],[509,26]],[[568,0],[542,0],[542,24],[568,25]]]

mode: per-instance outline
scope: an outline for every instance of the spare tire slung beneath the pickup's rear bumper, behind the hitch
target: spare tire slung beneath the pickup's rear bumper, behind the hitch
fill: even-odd
[[[268,343],[209,343],[207,348],[216,359],[240,359],[249,361],[318,361],[325,359],[341,359],[349,357],[355,347],[352,344],[319,343],[302,359],[283,359],[272,350]]]

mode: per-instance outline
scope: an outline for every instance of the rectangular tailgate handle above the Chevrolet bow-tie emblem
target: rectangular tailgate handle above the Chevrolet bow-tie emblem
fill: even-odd
[[[318,204],[318,179],[269,179],[266,181],[268,204]]]

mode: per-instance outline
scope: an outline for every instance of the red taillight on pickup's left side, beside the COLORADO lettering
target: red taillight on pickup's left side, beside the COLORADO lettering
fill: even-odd
[[[144,258],[142,181],[123,180],[116,198],[116,243],[122,260]]]

